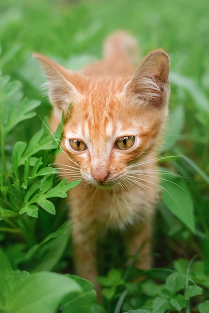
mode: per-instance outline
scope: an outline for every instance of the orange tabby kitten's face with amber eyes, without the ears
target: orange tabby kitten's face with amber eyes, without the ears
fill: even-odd
[[[164,116],[155,107],[136,106],[119,80],[92,85],[72,103],[63,144],[86,182],[112,187],[156,145]]]

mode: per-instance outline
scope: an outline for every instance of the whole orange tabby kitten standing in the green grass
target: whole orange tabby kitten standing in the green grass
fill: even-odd
[[[51,130],[61,122],[62,175],[82,182],[70,190],[77,273],[97,291],[97,239],[108,228],[124,232],[127,254],[140,250],[137,268],[150,268],[152,215],[158,199],[157,147],[166,120],[169,58],[154,50],[134,72],[137,44],[125,31],[104,44],[104,58],[81,73],[35,53],[54,106]],[[67,115],[69,104],[72,103]],[[141,248],[140,248],[141,247]]]

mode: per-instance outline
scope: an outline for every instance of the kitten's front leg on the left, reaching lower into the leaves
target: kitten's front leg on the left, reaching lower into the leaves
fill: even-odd
[[[83,227],[82,227],[83,226]],[[98,276],[96,260],[97,231],[95,225],[72,225],[74,257],[77,274],[93,282],[97,296],[101,296],[101,287],[96,280]]]

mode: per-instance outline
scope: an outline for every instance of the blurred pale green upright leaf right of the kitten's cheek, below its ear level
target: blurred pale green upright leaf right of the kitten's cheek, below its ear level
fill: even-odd
[[[175,145],[176,141],[179,139],[183,124],[184,109],[182,105],[178,105],[169,114],[169,121],[166,125],[161,151],[167,151]]]

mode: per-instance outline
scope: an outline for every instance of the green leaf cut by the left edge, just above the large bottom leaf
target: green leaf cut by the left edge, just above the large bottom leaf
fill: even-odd
[[[5,299],[5,294],[11,292],[19,279],[1,248],[0,260],[0,298],[4,297]]]

